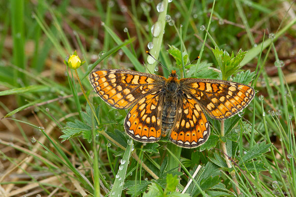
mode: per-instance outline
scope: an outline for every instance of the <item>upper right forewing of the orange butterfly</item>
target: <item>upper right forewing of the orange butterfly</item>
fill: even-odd
[[[185,94],[214,119],[224,120],[243,110],[255,96],[252,87],[223,80],[185,78],[180,80]]]

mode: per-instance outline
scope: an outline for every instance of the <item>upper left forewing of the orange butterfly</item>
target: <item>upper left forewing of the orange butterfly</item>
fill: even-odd
[[[125,69],[101,69],[89,74],[96,93],[116,109],[127,109],[164,84],[165,78]]]

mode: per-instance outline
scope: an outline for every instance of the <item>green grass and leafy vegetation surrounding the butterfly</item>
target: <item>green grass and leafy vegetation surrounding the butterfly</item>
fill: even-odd
[[[0,196],[296,196],[294,1],[161,2],[0,1]],[[63,64],[75,50],[91,106]],[[199,148],[132,141],[127,111],[97,97],[87,75],[167,77],[146,50],[169,69],[200,56],[182,77],[250,83],[255,99],[222,124],[209,119]],[[227,52],[237,61],[223,62]]]

